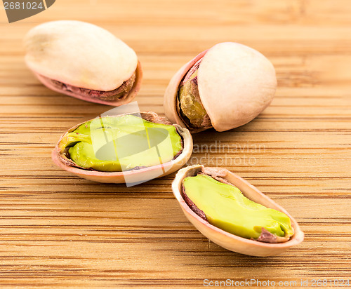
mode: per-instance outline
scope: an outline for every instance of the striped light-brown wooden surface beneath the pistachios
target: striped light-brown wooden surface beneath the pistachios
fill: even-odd
[[[266,55],[277,69],[272,105],[246,126],[194,135],[216,150],[197,149],[190,163],[245,177],[296,217],[305,241],[277,257],[232,253],[187,222],[174,174],[126,188],[54,166],[60,135],[111,108],[54,93],[25,67],[22,37],[60,19],[100,25],[135,49],[145,75],[135,100],[159,114],[171,76],[213,44]],[[351,278],[349,0],[60,0],[11,25],[1,8],[0,20],[1,288]]]

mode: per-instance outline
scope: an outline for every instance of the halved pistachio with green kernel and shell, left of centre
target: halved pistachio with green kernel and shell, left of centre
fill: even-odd
[[[192,153],[189,130],[152,112],[102,116],[69,129],[52,158],[97,182],[141,182],[173,173]]]

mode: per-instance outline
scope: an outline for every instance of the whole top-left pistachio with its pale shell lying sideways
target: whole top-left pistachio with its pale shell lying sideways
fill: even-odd
[[[25,36],[25,62],[48,88],[81,100],[124,105],[140,89],[143,72],[132,48],[86,22],[46,22]]]

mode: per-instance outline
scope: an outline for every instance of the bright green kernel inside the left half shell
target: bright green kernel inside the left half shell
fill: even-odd
[[[81,124],[61,140],[61,152],[67,149],[81,168],[119,172],[171,161],[183,142],[174,126],[128,114]]]

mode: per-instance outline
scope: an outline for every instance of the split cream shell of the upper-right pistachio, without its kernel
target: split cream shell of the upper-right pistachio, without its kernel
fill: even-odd
[[[198,66],[201,105],[211,125],[192,127],[180,113],[178,93],[187,72]],[[277,79],[272,63],[261,53],[239,43],[219,43],[187,62],[173,76],[164,95],[166,117],[197,133],[237,128],[254,119],[274,97]]]

